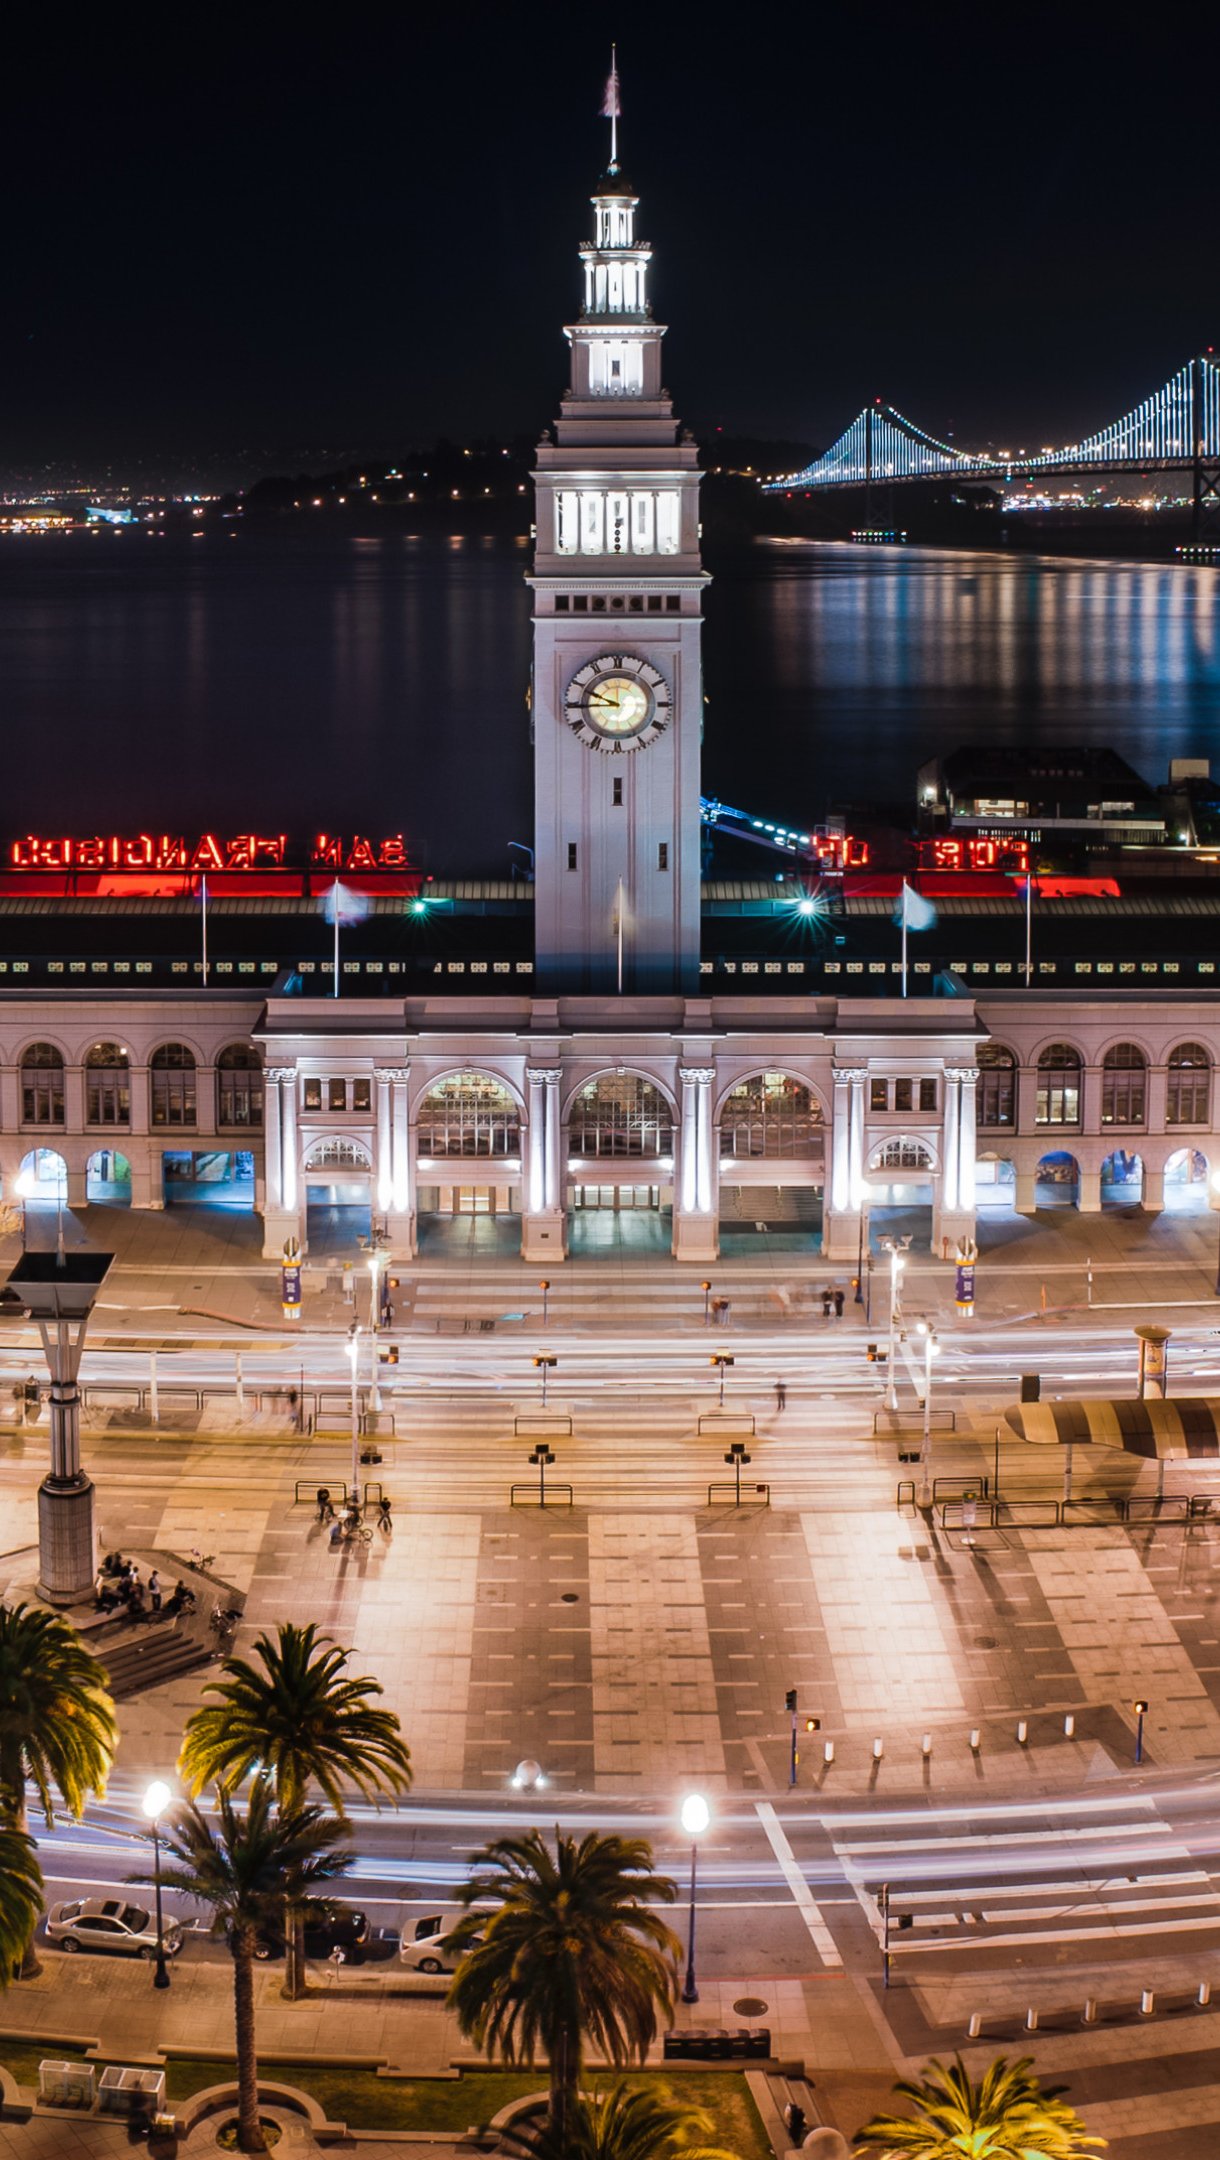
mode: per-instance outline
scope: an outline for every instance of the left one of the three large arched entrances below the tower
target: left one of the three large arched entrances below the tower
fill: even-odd
[[[415,1117],[417,1238],[447,1253],[512,1257],[520,1246],[520,1104],[492,1074],[436,1080]]]

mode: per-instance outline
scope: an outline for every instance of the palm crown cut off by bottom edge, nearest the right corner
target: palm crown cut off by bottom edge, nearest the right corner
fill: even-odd
[[[894,2093],[916,2115],[877,2115],[855,2132],[855,2145],[881,2145],[885,2160],[1086,2160],[1106,2138],[1090,2138],[1067,2087],[1043,2087],[1034,2058],[998,2056],[974,2084],[961,2056],[952,2067],[928,2063],[920,2080],[903,2078]]]

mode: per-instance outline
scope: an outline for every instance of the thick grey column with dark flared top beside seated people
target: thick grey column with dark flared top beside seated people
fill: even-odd
[[[22,1253],[11,1287],[39,1324],[52,1376],[52,1467],[39,1486],[39,1596],[76,1605],[93,1594],[97,1527],[93,1480],[80,1464],[80,1389],[76,1376],[93,1300],[112,1253]]]

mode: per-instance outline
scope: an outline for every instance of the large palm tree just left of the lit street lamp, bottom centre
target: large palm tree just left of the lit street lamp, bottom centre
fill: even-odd
[[[672,1905],[646,1838],[566,1838],[538,1830],[497,1838],[471,1860],[466,1912],[451,1931],[462,1957],[449,2007],[466,2039],[505,2063],[551,2065],[551,2130],[564,2145],[583,2041],[615,2065],[643,2063],[659,2017],[674,2013],[680,1942],[648,1899]],[[494,1909],[486,1909],[486,1907]]]

